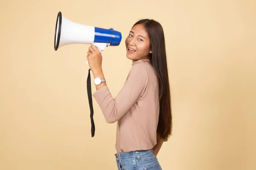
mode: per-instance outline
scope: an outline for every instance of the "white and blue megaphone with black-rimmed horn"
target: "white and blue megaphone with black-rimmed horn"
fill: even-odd
[[[122,34],[113,28],[104,29],[75,23],[58,12],[54,37],[55,51],[68,44],[92,44],[101,52],[107,46],[118,46],[121,40]]]

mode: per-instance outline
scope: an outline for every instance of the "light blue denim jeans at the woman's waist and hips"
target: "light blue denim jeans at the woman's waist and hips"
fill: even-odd
[[[153,150],[116,153],[118,170],[162,170]]]

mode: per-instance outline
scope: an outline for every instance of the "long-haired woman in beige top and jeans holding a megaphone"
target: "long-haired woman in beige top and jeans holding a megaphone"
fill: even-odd
[[[87,59],[96,83],[93,94],[106,122],[117,122],[116,163],[119,170],[161,170],[157,160],[172,132],[171,97],[163,28],[140,20],[125,40],[132,60],[126,82],[114,99],[102,71],[102,55],[91,45]]]

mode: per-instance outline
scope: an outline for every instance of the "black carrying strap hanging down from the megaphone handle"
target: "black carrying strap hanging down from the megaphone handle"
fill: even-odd
[[[88,95],[89,106],[90,106],[91,134],[93,137],[95,134],[95,125],[93,121],[93,99],[92,99],[92,89],[91,89],[91,81],[90,81],[90,68],[89,68],[88,77],[87,77],[87,95]]]

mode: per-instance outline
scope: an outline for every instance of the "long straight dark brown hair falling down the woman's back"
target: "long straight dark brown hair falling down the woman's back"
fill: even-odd
[[[159,22],[149,19],[139,20],[134,26],[137,24],[142,24],[150,37],[152,53],[149,54],[149,59],[159,84],[160,111],[157,134],[167,140],[172,135],[172,108],[163,27]]]

